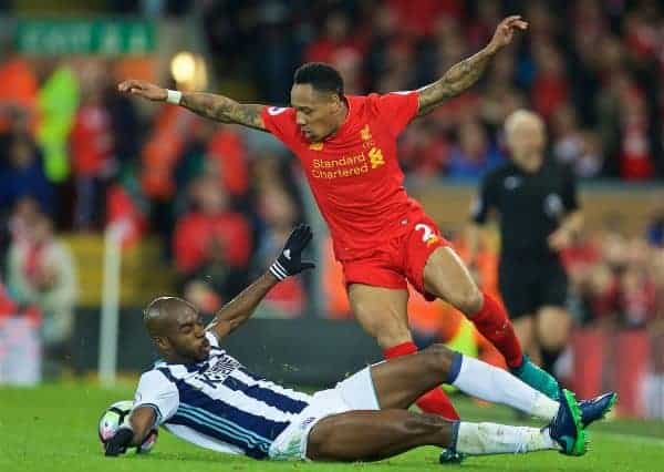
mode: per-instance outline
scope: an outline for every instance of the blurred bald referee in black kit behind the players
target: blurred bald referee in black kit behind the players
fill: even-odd
[[[470,266],[479,225],[491,213],[500,225],[499,288],[525,353],[552,372],[571,320],[564,308],[567,274],[559,252],[583,224],[572,173],[544,158],[546,130],[535,113],[519,110],[505,122],[511,162],[481,182],[468,229]]]

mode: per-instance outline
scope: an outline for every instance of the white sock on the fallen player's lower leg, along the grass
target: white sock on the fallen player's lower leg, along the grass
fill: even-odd
[[[508,427],[496,423],[459,422],[457,452],[466,454],[504,454],[558,450],[549,428]]]

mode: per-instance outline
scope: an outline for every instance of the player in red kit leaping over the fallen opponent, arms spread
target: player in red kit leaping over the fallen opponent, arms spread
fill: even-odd
[[[124,81],[118,90],[267,131],[288,146],[300,160],[330,227],[351,308],[386,358],[417,350],[407,324],[407,280],[427,298],[440,298],[463,311],[500,350],[512,373],[557,399],[557,381],[523,356],[502,306],[478,289],[436,224],[406,194],[396,155],[396,138],[412,120],[473,85],[515,32],[527,28],[518,16],[506,18],[485,49],[416,91],[345,95],[339,72],[323,63],[295,71],[289,107],[243,104],[138,80]],[[426,412],[458,418],[440,389],[417,404]]]

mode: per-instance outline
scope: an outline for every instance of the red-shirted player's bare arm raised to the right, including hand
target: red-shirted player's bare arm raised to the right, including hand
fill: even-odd
[[[508,17],[498,24],[491,42],[485,49],[453,65],[436,82],[423,86],[419,92],[419,109],[417,116],[430,112],[447,99],[452,99],[469,89],[486,70],[491,58],[500,49],[509,44],[515,30],[526,30],[528,23],[521,17]]]

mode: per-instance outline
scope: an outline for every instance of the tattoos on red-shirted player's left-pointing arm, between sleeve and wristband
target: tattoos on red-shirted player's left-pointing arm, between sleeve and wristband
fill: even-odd
[[[214,93],[183,93],[180,105],[194,113],[221,123],[235,123],[266,131],[261,116],[264,105],[238,103]]]

